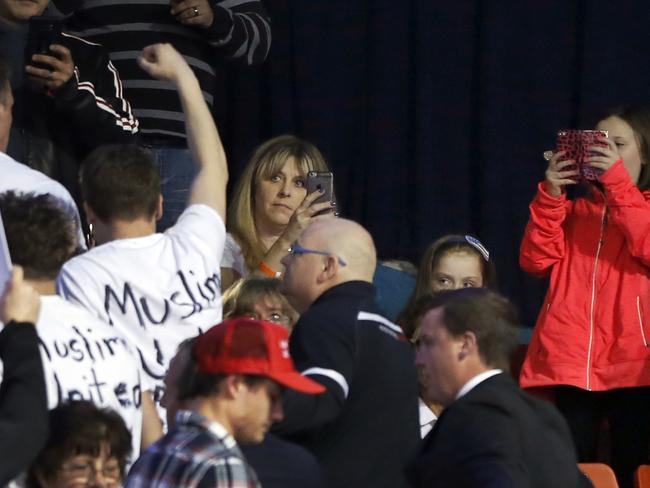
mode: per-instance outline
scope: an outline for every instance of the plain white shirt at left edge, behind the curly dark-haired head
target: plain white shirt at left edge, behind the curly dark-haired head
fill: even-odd
[[[36,171],[35,169],[19,163],[3,152],[0,152],[0,175],[2,175],[0,177],[0,193],[9,190],[21,193],[33,192],[37,195],[49,193],[61,200],[69,215],[77,224],[77,229],[79,231],[79,246],[84,249],[86,248],[86,241],[81,231],[81,219],[79,218],[77,204],[74,202],[68,190],[66,190],[61,183],[53,180],[40,171]]]

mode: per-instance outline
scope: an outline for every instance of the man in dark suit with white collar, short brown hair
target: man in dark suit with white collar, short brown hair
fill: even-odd
[[[444,411],[410,469],[416,487],[589,486],[569,429],[508,375],[514,307],[482,288],[418,304],[416,366],[426,400]]]

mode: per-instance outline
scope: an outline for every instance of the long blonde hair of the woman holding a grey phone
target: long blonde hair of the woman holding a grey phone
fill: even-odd
[[[257,183],[279,173],[292,157],[305,175],[309,171],[329,171],[325,158],[316,146],[287,134],[259,145],[235,185],[228,207],[228,231],[239,244],[248,269],[256,269],[266,254],[255,222]]]

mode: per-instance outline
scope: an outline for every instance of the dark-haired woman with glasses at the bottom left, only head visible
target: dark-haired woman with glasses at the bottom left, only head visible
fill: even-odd
[[[50,411],[50,436],[30,467],[28,488],[122,486],[131,434],[119,414],[87,401]]]

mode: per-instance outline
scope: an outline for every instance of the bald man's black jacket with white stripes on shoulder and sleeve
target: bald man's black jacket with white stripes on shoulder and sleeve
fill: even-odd
[[[333,488],[407,486],[420,441],[413,350],[374,295],[362,281],[327,290],[290,339],[296,368],[327,391],[288,390],[278,433],[311,450]]]

